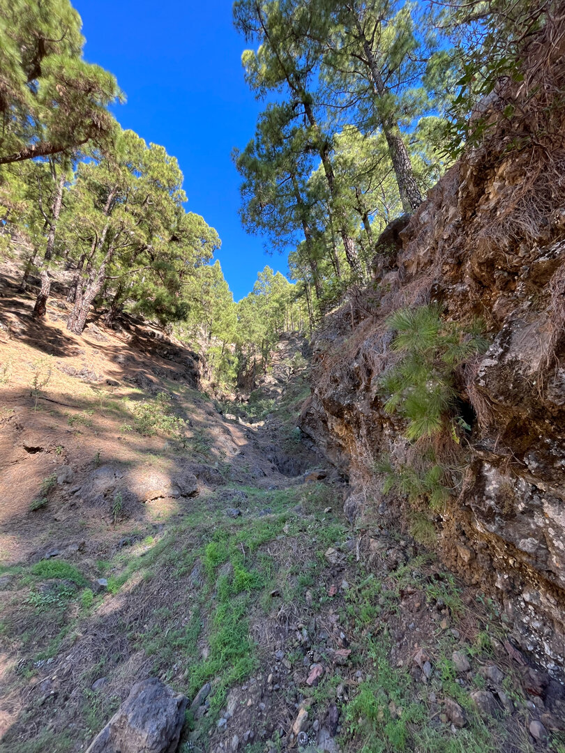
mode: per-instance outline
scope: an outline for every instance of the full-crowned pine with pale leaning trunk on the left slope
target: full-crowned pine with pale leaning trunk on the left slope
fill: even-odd
[[[108,285],[114,290],[108,323],[125,300],[161,323],[182,319],[182,287],[220,243],[202,218],[182,208],[176,159],[124,131],[111,157],[81,164],[73,191],[71,230],[80,256],[69,330],[81,334],[93,300]]]

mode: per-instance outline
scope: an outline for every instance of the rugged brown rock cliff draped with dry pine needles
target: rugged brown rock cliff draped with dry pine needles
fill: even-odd
[[[471,431],[461,483],[435,516],[444,561],[496,596],[523,648],[557,677],[565,655],[565,81],[563,19],[525,51],[524,81],[484,105],[492,127],[380,240],[374,280],[328,317],[302,417],[350,476],[346,511],[407,520],[375,461],[410,463],[405,422],[383,410],[396,309],[437,301],[447,321],[486,322],[490,346],[457,372]],[[542,56],[540,50],[545,50]],[[507,105],[518,113],[507,120]],[[399,238],[399,239],[395,239]],[[445,450],[446,448],[444,448]],[[447,448],[449,452],[449,448]]]

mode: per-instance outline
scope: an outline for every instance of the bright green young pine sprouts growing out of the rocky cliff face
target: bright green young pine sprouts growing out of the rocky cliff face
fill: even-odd
[[[433,439],[443,435],[460,444],[461,432],[471,429],[458,413],[456,375],[466,360],[487,349],[484,325],[480,320],[469,327],[446,322],[435,304],[399,309],[389,317],[388,325],[395,331],[392,348],[399,353],[399,361],[380,380],[384,410],[406,419],[405,436],[414,445],[417,462],[393,465],[389,457],[383,457],[375,471],[384,477],[385,494],[394,489],[416,510],[426,504],[441,511],[461,474],[441,458]],[[424,441],[421,450],[419,441]],[[414,528],[420,538],[430,539],[426,520],[425,515],[419,517]]]

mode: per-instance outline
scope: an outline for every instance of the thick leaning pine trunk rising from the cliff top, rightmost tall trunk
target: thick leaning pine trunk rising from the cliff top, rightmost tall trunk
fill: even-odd
[[[359,16],[356,13],[355,8],[349,5],[348,8],[353,14],[353,20],[356,25],[357,33],[359,34],[359,40],[362,43],[363,51],[367,58],[369,71],[371,72],[371,84],[373,85],[374,93],[378,97],[382,97],[386,94],[386,87],[383,82],[383,77],[380,75],[380,69],[377,65],[377,61],[374,59],[373,50],[371,50],[371,44],[365,37],[365,32],[362,29]],[[396,182],[399,186],[400,200],[402,201],[402,208],[405,212],[414,212],[423,201],[422,194],[418,188],[416,178],[414,177],[414,169],[412,169],[412,163],[408,149],[405,142],[402,140],[402,134],[400,133],[399,124],[394,118],[387,114],[378,112],[377,115],[380,120],[380,125],[383,129],[383,133],[386,139],[386,144],[389,148],[389,157],[392,162],[392,168],[394,169]]]

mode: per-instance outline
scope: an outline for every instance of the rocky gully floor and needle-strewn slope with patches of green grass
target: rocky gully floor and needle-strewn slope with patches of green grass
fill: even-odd
[[[346,480],[297,429],[303,340],[219,404],[157,331],[75,337],[56,291],[47,322],[31,308],[6,276],[2,753],[85,750],[147,678],[182,694],[183,753],[565,750],[563,688],[496,605],[344,517]]]

